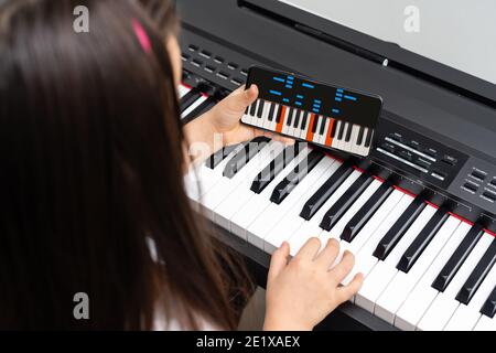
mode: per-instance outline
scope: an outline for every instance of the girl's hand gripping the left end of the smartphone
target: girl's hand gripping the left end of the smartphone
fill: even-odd
[[[258,136],[267,136],[287,143],[293,142],[292,139],[262,131],[240,122],[246,108],[256,101],[257,98],[258,87],[256,85],[251,85],[248,89],[241,86],[220,100],[207,114],[213,131],[222,133],[224,146],[248,141]]]

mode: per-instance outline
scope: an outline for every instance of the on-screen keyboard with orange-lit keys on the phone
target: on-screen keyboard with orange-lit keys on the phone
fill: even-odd
[[[346,152],[368,156],[374,130],[356,124],[258,99],[241,121]]]

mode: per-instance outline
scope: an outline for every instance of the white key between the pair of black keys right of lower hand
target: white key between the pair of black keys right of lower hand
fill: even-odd
[[[363,308],[366,308],[368,311],[374,312],[376,301],[378,300],[379,296],[386,289],[389,281],[398,272],[396,265],[398,264],[401,255],[414,240],[419,233],[425,227],[434,213],[434,207],[425,207],[414,220],[411,226],[407,229],[405,236],[396,244],[389,256],[387,256],[384,261],[376,263],[376,266],[373,267],[369,275],[367,276],[367,281],[364,282],[364,286],[356,296],[356,301],[358,304],[360,304]]]

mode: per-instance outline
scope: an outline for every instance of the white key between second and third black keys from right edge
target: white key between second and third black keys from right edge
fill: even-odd
[[[460,302],[455,299],[456,293],[468,278],[477,261],[490,246],[492,240],[493,236],[488,234],[483,235],[481,240],[468,255],[466,261],[462,265],[459,272],[448,286],[446,290],[442,293],[438,293],[425,314],[420,320],[417,330],[440,331],[446,325],[448,321],[460,304]]]

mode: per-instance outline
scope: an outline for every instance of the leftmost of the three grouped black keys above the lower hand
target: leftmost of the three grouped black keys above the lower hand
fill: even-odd
[[[306,221],[312,218],[352,172],[353,168],[348,161],[341,164],[341,167],[326,180],[326,182],[319,188],[309,201],[306,201],[300,216]]]

